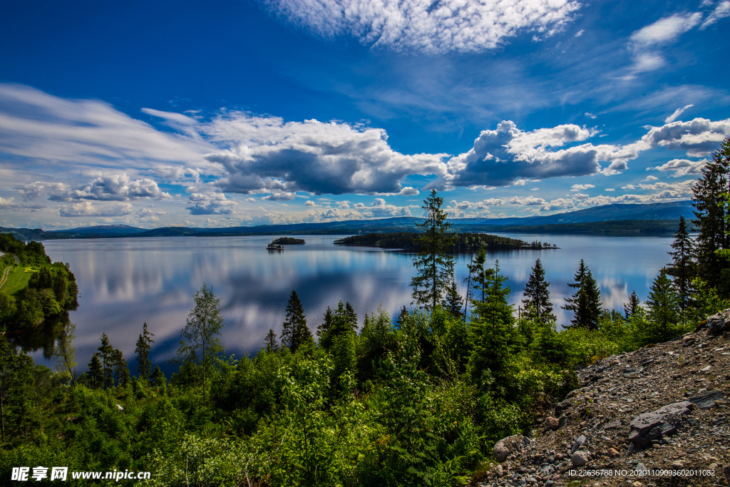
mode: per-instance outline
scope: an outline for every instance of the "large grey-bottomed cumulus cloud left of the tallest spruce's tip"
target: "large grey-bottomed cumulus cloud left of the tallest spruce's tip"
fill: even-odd
[[[229,112],[204,130],[229,147],[206,156],[228,172],[217,183],[227,192],[399,193],[406,175],[446,172],[445,154],[398,153],[383,129]]]

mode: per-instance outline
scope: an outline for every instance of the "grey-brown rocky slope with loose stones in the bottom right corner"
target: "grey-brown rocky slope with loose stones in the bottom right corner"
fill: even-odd
[[[727,486],[730,310],[708,323],[577,371],[582,387],[498,442],[477,485]]]

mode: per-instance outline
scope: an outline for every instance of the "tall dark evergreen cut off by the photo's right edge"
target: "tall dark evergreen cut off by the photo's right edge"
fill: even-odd
[[[712,161],[704,166],[702,177],[692,188],[692,204],[696,209],[693,223],[699,229],[696,248],[699,275],[712,287],[723,284],[723,271],[728,268],[728,261],[718,256],[718,250],[730,249],[724,198],[729,193],[729,171],[730,137],[712,154]]]

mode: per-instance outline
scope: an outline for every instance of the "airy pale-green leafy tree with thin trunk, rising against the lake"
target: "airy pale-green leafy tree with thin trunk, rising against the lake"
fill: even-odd
[[[223,316],[220,315],[220,299],[213,294],[213,288],[203,287],[194,297],[195,308],[188,315],[188,323],[180,331],[178,360],[195,366],[202,374],[203,401],[207,377],[212,373],[215,358],[223,353],[220,343],[220,329]]]

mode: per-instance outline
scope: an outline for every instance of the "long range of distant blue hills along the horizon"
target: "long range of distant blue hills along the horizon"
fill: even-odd
[[[454,218],[450,221],[459,231],[675,231],[680,216],[694,218],[692,202],[607,204],[548,216],[513,218]],[[223,229],[199,229],[186,226],[166,226],[140,229],[127,225],[88,226],[77,229],[5,229],[24,240],[110,238],[110,237],[196,237],[226,235],[272,234],[363,234],[372,232],[413,231],[423,218],[395,217],[378,220],[331,221],[326,223],[294,223],[291,225],[234,226]]]

